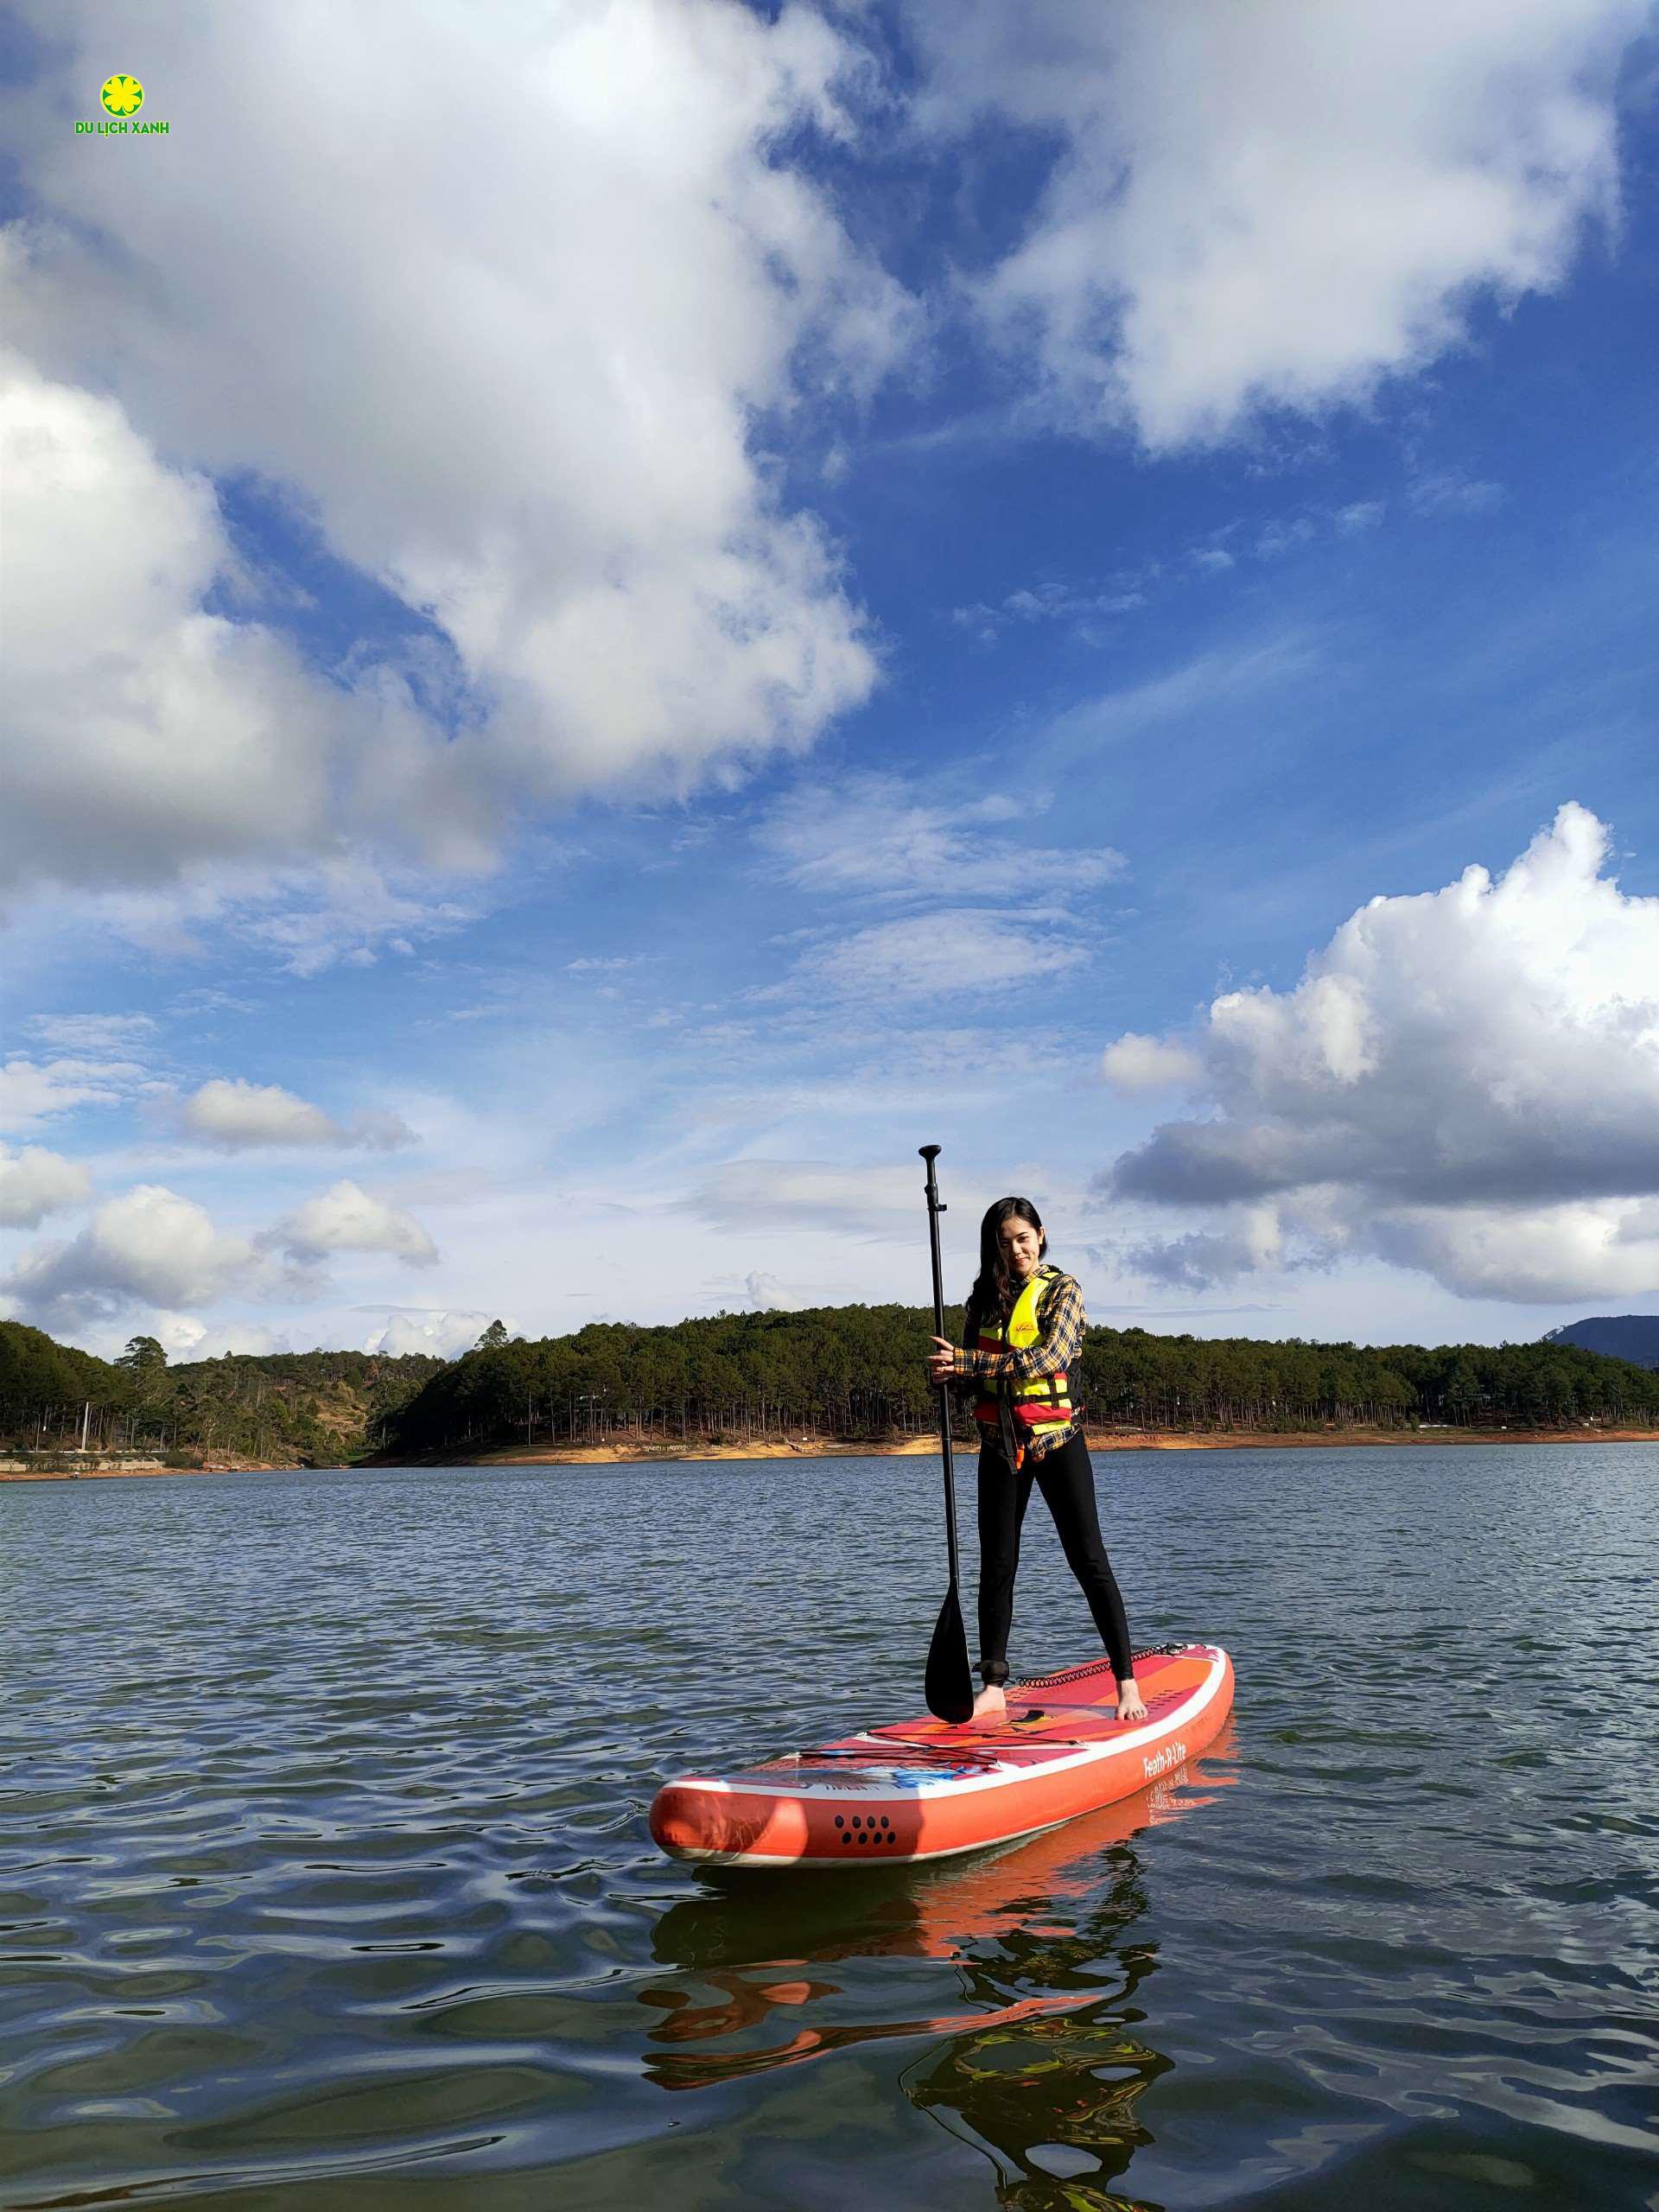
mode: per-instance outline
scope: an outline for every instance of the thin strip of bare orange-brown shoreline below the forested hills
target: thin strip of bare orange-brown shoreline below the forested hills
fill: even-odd
[[[1091,1453],[1099,1451],[1329,1451],[1398,1449],[1409,1444],[1659,1444],[1659,1429],[1095,1429],[1084,1431]],[[365,1460],[330,1460],[312,1473],[352,1473],[372,1467],[677,1467],[708,1460],[896,1460],[938,1453],[933,1436],[896,1436],[845,1442],[805,1438],[801,1442],[754,1440],[743,1444],[500,1444],[484,1451],[418,1453]],[[956,1455],[975,1460],[978,1442],[956,1444]],[[108,1467],[24,1467],[0,1460],[0,1482],[113,1482],[139,1475],[270,1475],[294,1469],[279,1460],[241,1460],[228,1453],[206,1467],[164,1467],[159,1460],[122,1458]]]

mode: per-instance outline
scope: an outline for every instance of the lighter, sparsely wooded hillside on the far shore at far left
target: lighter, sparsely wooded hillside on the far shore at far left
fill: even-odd
[[[0,1321],[0,1444],[144,1451],[192,1462],[204,1451],[276,1467],[336,1464],[385,1442],[392,1416],[442,1360],[376,1352],[168,1356],[135,1336],[97,1360],[40,1329]]]

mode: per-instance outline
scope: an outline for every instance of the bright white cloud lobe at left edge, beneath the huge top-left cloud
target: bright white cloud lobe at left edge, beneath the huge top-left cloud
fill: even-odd
[[[405,684],[327,684],[270,628],[204,611],[230,557],[204,478],[164,467],[115,400],[15,354],[0,422],[0,876],[161,885],[376,830],[414,832],[434,860],[480,856],[491,799],[480,812]]]

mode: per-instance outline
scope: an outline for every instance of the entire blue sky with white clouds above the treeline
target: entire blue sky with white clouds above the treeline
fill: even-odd
[[[4,49],[2,1310],[1652,1310],[1652,15],[400,49]]]

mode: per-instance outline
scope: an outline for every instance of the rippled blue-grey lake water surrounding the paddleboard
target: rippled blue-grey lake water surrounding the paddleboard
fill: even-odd
[[[929,1460],[0,1486],[0,2203],[1657,2205],[1659,1449],[1097,1464],[1232,1732],[816,1878],[646,1805],[918,1708]]]

